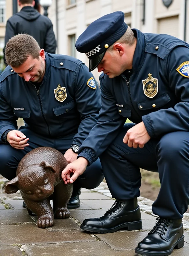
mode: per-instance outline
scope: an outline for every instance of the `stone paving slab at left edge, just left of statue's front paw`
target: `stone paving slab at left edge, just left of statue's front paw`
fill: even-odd
[[[26,210],[0,210],[0,224],[33,222]]]

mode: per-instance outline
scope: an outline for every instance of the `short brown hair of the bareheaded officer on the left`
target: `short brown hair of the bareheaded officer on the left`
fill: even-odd
[[[40,46],[34,37],[27,34],[13,36],[6,44],[5,58],[8,65],[18,68],[29,56],[39,60]]]

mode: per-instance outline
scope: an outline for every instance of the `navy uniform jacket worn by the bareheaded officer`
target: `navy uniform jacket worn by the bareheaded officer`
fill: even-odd
[[[98,120],[99,88],[87,85],[93,75],[80,60],[49,53],[45,56],[46,70],[39,90],[11,72],[10,66],[0,76],[0,139],[5,131],[17,129],[16,120],[21,117],[26,127],[49,138],[74,134],[73,143],[80,146]],[[62,102],[55,98],[58,84],[67,94]]]

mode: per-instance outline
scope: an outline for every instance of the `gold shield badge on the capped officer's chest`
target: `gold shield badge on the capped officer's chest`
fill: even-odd
[[[148,78],[142,80],[144,94],[148,98],[153,98],[158,92],[158,80],[152,77],[152,74],[148,74]]]

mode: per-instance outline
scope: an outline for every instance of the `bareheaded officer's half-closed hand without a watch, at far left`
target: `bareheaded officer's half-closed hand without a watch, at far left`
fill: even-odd
[[[13,148],[24,149],[25,147],[29,146],[27,143],[28,140],[29,138],[26,138],[26,135],[17,130],[7,133],[7,141]]]

